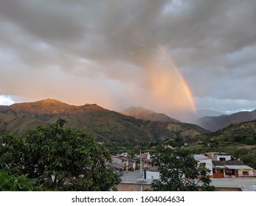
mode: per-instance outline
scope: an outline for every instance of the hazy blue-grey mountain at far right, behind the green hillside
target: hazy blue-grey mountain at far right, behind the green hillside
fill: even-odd
[[[252,112],[239,112],[226,116],[204,116],[196,121],[196,124],[210,131],[217,131],[228,127],[230,124],[236,124],[243,121],[252,121],[256,119],[256,110]]]

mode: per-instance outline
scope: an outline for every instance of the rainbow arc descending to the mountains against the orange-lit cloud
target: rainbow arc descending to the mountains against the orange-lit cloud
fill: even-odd
[[[166,51],[165,47],[159,44],[159,49],[162,52],[162,55],[167,57],[168,63],[170,63],[170,66],[173,68],[173,71],[175,72],[176,77],[179,79],[179,82],[182,85],[184,93],[186,93],[186,95],[187,95],[187,99],[188,99],[188,102],[190,103],[191,109],[193,110],[194,113],[197,113],[196,103],[195,103],[195,101],[193,99],[193,93],[192,93],[189,85],[187,84],[187,82],[184,79],[183,75],[181,74],[181,72],[179,71],[178,67],[174,63],[173,59],[170,57],[169,54],[167,54],[167,51]]]

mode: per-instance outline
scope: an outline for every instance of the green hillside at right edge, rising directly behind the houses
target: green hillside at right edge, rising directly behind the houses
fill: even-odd
[[[193,153],[227,152],[256,169],[256,120],[197,135],[185,148]]]

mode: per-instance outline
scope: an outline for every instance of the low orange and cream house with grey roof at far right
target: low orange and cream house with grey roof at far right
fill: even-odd
[[[213,160],[212,165],[213,178],[254,176],[254,169],[238,160]]]

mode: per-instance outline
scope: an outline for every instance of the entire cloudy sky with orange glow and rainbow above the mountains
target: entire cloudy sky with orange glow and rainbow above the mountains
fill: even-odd
[[[256,108],[255,0],[0,0],[0,104]]]

